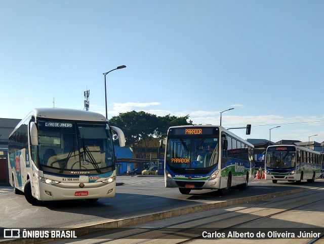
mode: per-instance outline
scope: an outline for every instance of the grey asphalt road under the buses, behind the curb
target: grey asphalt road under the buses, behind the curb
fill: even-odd
[[[12,188],[0,187],[0,225],[4,228],[84,226],[196,204],[323,187],[324,179],[316,179],[314,183],[303,182],[300,185],[253,180],[248,189],[231,190],[227,196],[210,190],[192,191],[191,195],[182,195],[178,189],[165,188],[164,178],[159,176],[119,176],[117,183],[117,193],[112,199],[100,199],[92,204],[84,200],[53,201],[38,206],[30,205],[23,195],[15,195]]]

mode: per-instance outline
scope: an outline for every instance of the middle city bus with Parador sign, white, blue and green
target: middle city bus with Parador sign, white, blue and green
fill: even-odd
[[[246,188],[254,177],[254,147],[221,126],[170,127],[165,152],[165,185],[191,190]]]

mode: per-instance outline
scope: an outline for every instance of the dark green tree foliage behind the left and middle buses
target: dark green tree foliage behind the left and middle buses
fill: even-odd
[[[109,120],[109,124],[123,130],[126,144],[130,145],[148,136],[161,137],[166,134],[170,126],[189,125],[192,122],[187,120],[189,116],[156,116],[143,111],[120,113]],[[114,134],[114,138],[117,135]]]

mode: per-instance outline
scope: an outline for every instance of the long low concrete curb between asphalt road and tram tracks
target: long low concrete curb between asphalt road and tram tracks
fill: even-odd
[[[276,193],[270,193],[270,194],[264,194],[259,196],[252,196],[252,197],[242,197],[242,198],[236,198],[227,201],[225,200],[225,201],[219,201],[213,203],[201,203],[201,204],[196,204],[191,206],[179,207],[169,211],[162,211],[162,212],[156,212],[147,215],[134,216],[126,219],[109,220],[109,221],[99,222],[96,224],[76,226],[74,228],[67,228],[65,230],[73,230],[75,231],[76,236],[79,237],[79,236],[83,236],[83,235],[87,235],[99,231],[104,231],[112,228],[128,227],[132,225],[146,223],[149,221],[173,218],[181,215],[187,215],[187,214],[197,213],[201,211],[208,211],[216,208],[244,204],[248,202],[266,200],[275,197],[287,196],[287,195],[296,194],[300,192],[303,192],[303,189],[276,192]],[[1,244],[36,244],[36,243],[45,243],[53,240],[58,240],[58,239],[20,238],[20,239],[0,240],[0,243]]]

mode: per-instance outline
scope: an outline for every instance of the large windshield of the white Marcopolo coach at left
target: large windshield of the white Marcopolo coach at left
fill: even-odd
[[[106,172],[114,166],[108,124],[38,121],[38,157],[43,166]],[[105,170],[106,169],[106,170]]]

